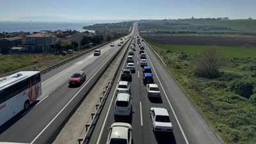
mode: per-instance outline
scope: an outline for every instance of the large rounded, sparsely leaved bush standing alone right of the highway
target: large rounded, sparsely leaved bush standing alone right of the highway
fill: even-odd
[[[214,78],[219,76],[220,68],[227,65],[227,60],[218,47],[212,45],[195,54],[191,60],[191,65],[195,68],[197,76]]]

